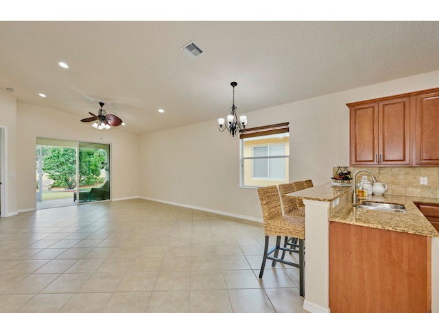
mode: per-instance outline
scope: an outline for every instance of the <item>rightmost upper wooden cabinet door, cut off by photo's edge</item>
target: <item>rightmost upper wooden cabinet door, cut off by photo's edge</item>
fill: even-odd
[[[416,164],[439,164],[439,92],[416,97]]]

